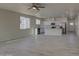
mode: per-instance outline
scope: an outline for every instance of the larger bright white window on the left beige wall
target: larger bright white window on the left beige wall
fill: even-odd
[[[20,29],[30,28],[30,18],[20,16]]]

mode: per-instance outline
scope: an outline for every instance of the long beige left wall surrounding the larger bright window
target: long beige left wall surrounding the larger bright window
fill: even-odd
[[[20,30],[20,16],[31,18],[31,28]],[[0,41],[28,37],[32,34],[36,17],[0,9]]]

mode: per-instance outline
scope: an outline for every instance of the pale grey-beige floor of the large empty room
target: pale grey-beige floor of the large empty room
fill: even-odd
[[[17,39],[0,44],[0,56],[79,56],[75,34]]]

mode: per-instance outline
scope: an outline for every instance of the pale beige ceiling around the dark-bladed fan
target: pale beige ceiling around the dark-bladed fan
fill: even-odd
[[[33,15],[41,18],[75,16],[79,13],[79,3],[42,3],[40,11],[28,10],[31,3],[0,3],[0,8]]]

